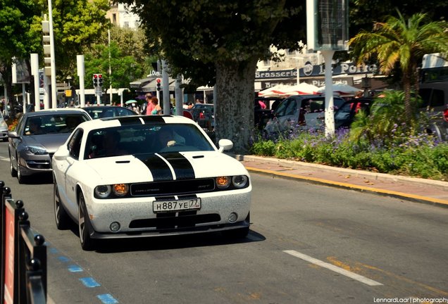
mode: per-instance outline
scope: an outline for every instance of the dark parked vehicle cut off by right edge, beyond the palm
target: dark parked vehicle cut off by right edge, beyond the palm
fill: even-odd
[[[420,112],[426,113],[430,122],[426,132],[448,141],[448,82],[420,84],[418,94],[423,100]]]

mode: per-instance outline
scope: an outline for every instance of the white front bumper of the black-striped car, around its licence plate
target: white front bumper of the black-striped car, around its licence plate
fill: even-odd
[[[116,239],[142,236],[166,236],[220,232],[249,227],[250,189],[198,194],[200,210],[154,213],[153,197],[86,200],[94,239]],[[237,220],[229,221],[230,213]],[[118,222],[118,232],[111,224]]]

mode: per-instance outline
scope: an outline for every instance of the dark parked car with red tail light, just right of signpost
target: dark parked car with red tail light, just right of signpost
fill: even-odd
[[[370,113],[370,108],[373,104],[373,98],[358,98],[350,99],[342,103],[342,106],[335,110],[335,129],[349,128],[354,117],[360,110],[363,110],[367,115]]]

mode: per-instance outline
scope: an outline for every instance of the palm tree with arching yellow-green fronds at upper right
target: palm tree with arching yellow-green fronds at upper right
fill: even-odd
[[[397,10],[399,18],[389,17],[385,23],[375,23],[373,32],[361,31],[349,40],[358,63],[374,56],[380,63],[380,72],[391,75],[394,68],[403,73],[404,108],[406,120],[411,120],[413,105],[411,89],[418,89],[418,65],[425,53],[448,52],[446,22],[425,23],[426,14],[416,13],[407,21]]]

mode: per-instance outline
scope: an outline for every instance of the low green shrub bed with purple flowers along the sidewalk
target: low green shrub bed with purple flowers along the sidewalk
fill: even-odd
[[[260,139],[251,148],[259,156],[375,172],[448,180],[448,143],[437,144],[425,134],[401,133],[389,141],[351,140],[349,133],[297,134],[294,139]]]

